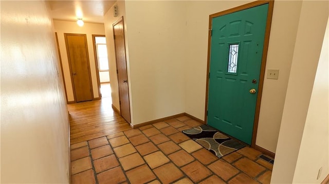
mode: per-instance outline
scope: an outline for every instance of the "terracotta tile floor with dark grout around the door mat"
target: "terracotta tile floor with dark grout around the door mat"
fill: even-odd
[[[182,130],[187,116],[71,145],[72,183],[269,183],[272,167],[249,147],[218,159]]]

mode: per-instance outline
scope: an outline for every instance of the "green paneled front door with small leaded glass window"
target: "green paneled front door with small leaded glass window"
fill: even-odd
[[[212,18],[207,124],[251,145],[268,4]]]

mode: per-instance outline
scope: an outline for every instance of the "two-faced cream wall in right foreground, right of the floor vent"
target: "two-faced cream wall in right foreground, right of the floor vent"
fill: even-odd
[[[327,78],[324,81],[318,78],[313,86],[327,19],[328,1],[302,2],[272,183],[320,183],[316,177],[321,165],[322,178],[328,173],[328,121],[325,122],[328,84],[322,86]],[[322,53],[327,54],[327,48],[323,49]],[[321,56],[319,67],[323,60],[327,63],[327,56]],[[318,77],[325,72],[326,69],[318,70]]]

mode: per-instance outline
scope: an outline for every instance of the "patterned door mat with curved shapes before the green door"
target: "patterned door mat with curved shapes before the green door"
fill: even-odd
[[[209,150],[218,158],[245,147],[244,144],[229,138],[208,125],[183,130],[182,133]]]

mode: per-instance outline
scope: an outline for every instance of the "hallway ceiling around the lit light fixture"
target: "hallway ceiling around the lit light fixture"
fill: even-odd
[[[53,19],[104,23],[104,14],[116,1],[47,1]]]

